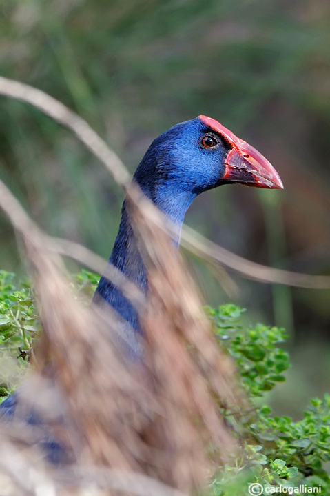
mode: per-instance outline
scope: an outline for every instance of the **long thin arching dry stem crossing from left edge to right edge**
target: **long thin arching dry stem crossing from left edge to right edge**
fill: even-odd
[[[105,141],[96,134],[84,119],[72,112],[63,103],[50,97],[45,92],[37,90],[37,88],[6,77],[0,77],[0,94],[30,103],[30,105],[39,108],[41,112],[72,130],[81,143],[103,163],[124,190],[129,185],[130,174],[121,159],[110,150]],[[153,204],[149,204],[149,208],[154,208]],[[159,226],[163,226],[163,224],[163,220],[160,223],[158,222]],[[173,226],[171,227],[169,223],[167,224],[169,230],[175,230]],[[200,257],[220,262],[225,267],[240,273],[243,277],[302,288],[330,288],[330,277],[328,276],[296,274],[295,272],[256,264],[243,257],[238,257],[238,255],[234,255],[234,253],[201,237],[191,228],[183,228],[182,239],[187,249],[196,252]]]

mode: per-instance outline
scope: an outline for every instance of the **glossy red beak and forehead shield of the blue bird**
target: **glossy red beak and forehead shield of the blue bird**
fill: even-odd
[[[274,167],[256,148],[238,138],[211,117],[200,115],[200,120],[223,135],[233,147],[229,150],[225,161],[226,170],[223,175],[225,181],[256,188],[283,188],[280,176]]]

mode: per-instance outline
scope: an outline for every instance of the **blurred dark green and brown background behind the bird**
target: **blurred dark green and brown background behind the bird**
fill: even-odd
[[[330,4],[324,0],[2,0],[1,74],[79,112],[133,172],[175,123],[210,115],[274,164],[284,191],[201,195],[187,224],[238,255],[329,272]],[[61,126],[0,97],[0,177],[52,235],[108,257],[123,193]],[[327,182],[328,181],[328,182]],[[23,268],[0,216],[0,267]],[[295,415],[330,390],[329,291],[234,276],[227,295],[187,255],[207,303],[285,326],[296,365],[273,398]],[[279,408],[279,406],[277,407]]]

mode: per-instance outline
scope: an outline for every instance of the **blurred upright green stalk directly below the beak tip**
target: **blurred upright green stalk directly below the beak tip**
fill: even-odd
[[[287,244],[282,215],[282,199],[273,191],[258,191],[265,219],[269,264],[272,267],[287,269]],[[272,303],[275,325],[284,327],[291,337],[294,336],[293,304],[290,286],[272,284]]]

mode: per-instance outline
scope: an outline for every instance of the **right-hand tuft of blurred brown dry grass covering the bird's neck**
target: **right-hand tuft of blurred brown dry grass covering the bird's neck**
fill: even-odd
[[[135,188],[127,194],[134,198],[131,214],[148,271],[149,299],[143,314],[145,355],[162,411],[162,428],[157,426],[155,439],[161,433],[158,444],[172,453],[172,459],[163,459],[161,470],[183,488],[199,486],[208,464],[204,443],[212,442],[220,462],[235,446],[219,415],[219,405],[239,411],[244,398],[236,383],[234,364],[212,337],[194,283],[172,239],[158,227],[157,212],[138,201]],[[198,433],[196,419],[200,419]]]

